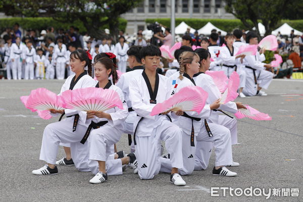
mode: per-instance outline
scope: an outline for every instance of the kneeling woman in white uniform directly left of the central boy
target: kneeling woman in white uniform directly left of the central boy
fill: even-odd
[[[135,162],[135,155],[129,154],[128,157],[115,159],[111,151],[111,146],[121,138],[121,130],[123,130],[123,122],[127,117],[127,105],[124,102],[124,96],[121,89],[113,84],[117,82],[118,75],[113,61],[108,57],[98,59],[94,63],[94,72],[97,79],[96,87],[104,89],[112,89],[116,91],[123,102],[123,108],[117,107],[105,112],[87,113],[88,117],[92,117],[91,127],[96,128],[90,132],[88,138],[89,143],[89,168],[95,176],[89,181],[97,184],[107,181],[108,175],[121,175],[122,165]],[[113,76],[112,81],[108,78]],[[89,130],[89,129],[88,129]],[[89,131],[86,134],[89,134]]]

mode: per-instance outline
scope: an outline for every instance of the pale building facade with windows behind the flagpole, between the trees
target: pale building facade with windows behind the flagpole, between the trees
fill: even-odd
[[[234,19],[225,12],[223,0],[175,0],[176,18]],[[128,21],[125,33],[146,29],[145,19],[170,18],[171,0],[143,0],[135,9],[121,16]],[[177,26],[177,25],[176,25]]]

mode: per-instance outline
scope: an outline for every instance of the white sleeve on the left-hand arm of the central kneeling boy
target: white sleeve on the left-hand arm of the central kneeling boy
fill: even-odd
[[[136,79],[132,79],[130,82],[129,98],[131,100],[132,108],[137,115],[147,119],[155,120],[156,116],[149,116],[154,106],[146,105],[143,103],[142,95],[140,93],[140,85],[137,83]]]

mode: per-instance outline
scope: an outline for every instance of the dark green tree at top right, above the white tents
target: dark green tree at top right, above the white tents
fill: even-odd
[[[291,8],[291,5],[293,7],[296,4],[297,0],[226,0],[225,10],[241,20],[247,29],[256,27],[259,36],[258,20],[261,20],[266,29],[266,36],[271,34],[283,18],[285,8]]]

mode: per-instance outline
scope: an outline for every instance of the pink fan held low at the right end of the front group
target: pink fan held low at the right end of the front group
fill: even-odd
[[[254,119],[257,121],[270,121],[272,118],[268,114],[264,114],[259,112],[258,110],[249,107],[248,105],[244,105],[246,109],[239,109],[237,113],[235,113],[235,117],[238,119],[242,119],[244,117]]]

